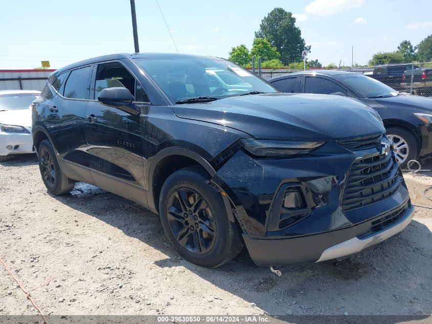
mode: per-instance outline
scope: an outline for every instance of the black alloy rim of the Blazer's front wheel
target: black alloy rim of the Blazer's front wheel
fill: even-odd
[[[168,199],[167,218],[175,239],[187,250],[208,252],[216,238],[216,222],[207,201],[195,190],[179,188]]]

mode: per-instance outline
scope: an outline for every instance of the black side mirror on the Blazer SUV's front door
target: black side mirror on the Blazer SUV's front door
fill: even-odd
[[[99,102],[104,105],[118,108],[131,115],[139,115],[140,110],[132,103],[133,99],[130,91],[123,87],[105,88],[98,95]]]

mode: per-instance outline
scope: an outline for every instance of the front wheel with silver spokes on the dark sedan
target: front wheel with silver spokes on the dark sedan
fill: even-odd
[[[389,127],[386,129],[386,133],[393,144],[393,150],[400,167],[405,169],[408,161],[418,157],[419,144],[417,139],[408,129],[401,127]]]

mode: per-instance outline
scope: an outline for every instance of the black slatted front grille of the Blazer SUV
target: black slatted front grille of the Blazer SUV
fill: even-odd
[[[395,193],[402,181],[393,152],[356,160],[342,198],[344,210],[367,206]]]

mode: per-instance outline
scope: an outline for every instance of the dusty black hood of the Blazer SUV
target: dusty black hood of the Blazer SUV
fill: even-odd
[[[334,141],[385,132],[374,110],[342,96],[272,93],[178,104],[173,110],[180,118],[261,139]]]

